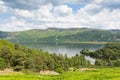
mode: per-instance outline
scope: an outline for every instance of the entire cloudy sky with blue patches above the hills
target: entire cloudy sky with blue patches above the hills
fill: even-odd
[[[120,29],[120,0],[0,0],[0,31]]]

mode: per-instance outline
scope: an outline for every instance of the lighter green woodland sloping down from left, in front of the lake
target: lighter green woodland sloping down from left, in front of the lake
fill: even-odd
[[[68,57],[62,54],[50,54],[42,50],[30,49],[25,46],[0,40],[0,69],[13,68],[15,71],[54,70],[64,72],[69,67],[87,67],[90,62],[83,55]]]

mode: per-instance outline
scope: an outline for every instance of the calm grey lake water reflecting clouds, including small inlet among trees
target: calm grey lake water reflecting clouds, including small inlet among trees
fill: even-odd
[[[43,51],[48,51],[50,53],[61,53],[67,54],[69,57],[79,54],[80,51],[84,48],[89,50],[96,50],[98,48],[103,47],[102,44],[88,44],[88,43],[71,43],[71,44],[60,44],[60,43],[21,43],[22,45],[26,45],[29,48],[34,49],[42,49]],[[92,64],[94,64],[95,59],[86,56],[87,60],[90,60]]]

